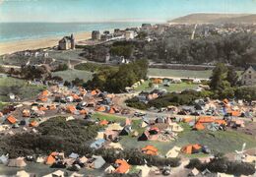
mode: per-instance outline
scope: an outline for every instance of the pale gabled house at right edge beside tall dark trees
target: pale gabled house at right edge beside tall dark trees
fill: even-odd
[[[241,75],[241,84],[245,86],[256,85],[256,65],[249,66]]]

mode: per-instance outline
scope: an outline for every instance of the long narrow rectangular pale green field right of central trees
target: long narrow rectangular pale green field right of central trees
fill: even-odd
[[[172,69],[149,68],[148,75],[149,76],[160,76],[160,77],[209,79],[212,75],[212,70],[192,71],[192,70],[172,70]]]

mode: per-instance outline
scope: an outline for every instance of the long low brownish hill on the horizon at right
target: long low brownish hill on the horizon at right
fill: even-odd
[[[256,14],[191,14],[169,21],[180,24],[256,24]]]

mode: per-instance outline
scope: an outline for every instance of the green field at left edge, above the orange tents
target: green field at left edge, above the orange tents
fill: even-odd
[[[25,80],[15,78],[0,78],[0,101],[9,101],[9,93],[18,95],[21,99],[31,98],[38,94],[42,86],[29,85]]]

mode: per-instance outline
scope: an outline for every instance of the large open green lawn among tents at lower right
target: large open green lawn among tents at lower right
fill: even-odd
[[[188,144],[201,144],[208,146],[212,150],[220,152],[232,152],[235,149],[240,149],[243,143],[246,143],[246,148],[255,148],[256,141],[252,136],[241,134],[236,131],[191,131],[187,124],[181,124],[184,131],[178,135],[175,141],[161,143],[156,141],[138,142],[137,138],[130,136],[123,137],[120,141],[124,148],[143,148],[147,145],[153,145],[159,148],[160,154],[165,155],[166,152],[174,146],[183,147]],[[202,157],[204,153],[185,155],[187,157]]]

